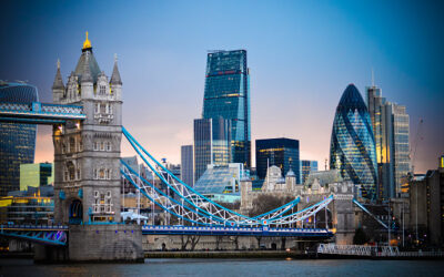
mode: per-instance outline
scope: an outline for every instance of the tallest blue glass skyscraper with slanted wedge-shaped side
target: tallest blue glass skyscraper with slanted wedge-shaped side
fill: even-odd
[[[231,121],[231,162],[250,167],[250,74],[245,50],[208,54],[202,117]]]

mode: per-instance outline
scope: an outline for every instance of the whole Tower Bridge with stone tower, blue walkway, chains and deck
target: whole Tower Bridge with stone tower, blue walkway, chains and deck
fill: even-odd
[[[351,239],[354,218],[350,184],[317,195],[303,209],[293,212],[300,202],[305,202],[301,194],[281,207],[250,217],[212,202],[174,176],[122,126],[122,80],[118,61],[114,60],[108,78],[95,61],[88,33],[67,83],[58,62],[52,94],[54,104],[0,104],[0,121],[54,125],[56,226],[6,225],[0,232],[0,235],[39,243],[37,259],[140,260],[142,236],[163,239],[165,236],[291,237],[324,242],[335,235],[336,242],[344,244]],[[165,194],[121,160],[122,135],[173,194]],[[121,177],[175,216],[179,226],[123,224]],[[248,185],[246,181],[241,186]],[[330,225],[325,218],[323,228],[299,224],[327,211],[334,212],[333,218]],[[150,238],[147,242],[152,243]]]

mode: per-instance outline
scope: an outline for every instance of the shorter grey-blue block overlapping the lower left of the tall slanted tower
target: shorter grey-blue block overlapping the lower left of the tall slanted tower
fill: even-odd
[[[194,183],[209,164],[230,163],[231,130],[231,121],[222,117],[194,120]]]

